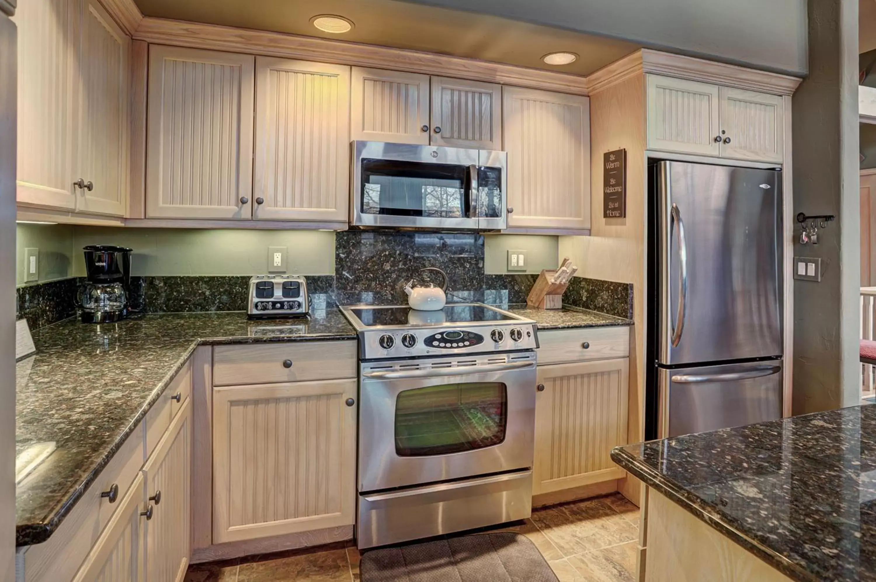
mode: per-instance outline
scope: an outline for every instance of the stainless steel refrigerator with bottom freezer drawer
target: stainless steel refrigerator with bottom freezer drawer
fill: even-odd
[[[781,170],[649,166],[649,438],[781,417]]]

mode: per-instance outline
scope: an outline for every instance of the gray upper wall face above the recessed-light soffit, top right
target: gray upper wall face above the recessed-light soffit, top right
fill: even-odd
[[[409,1],[632,40],[788,74],[809,70],[806,0]]]

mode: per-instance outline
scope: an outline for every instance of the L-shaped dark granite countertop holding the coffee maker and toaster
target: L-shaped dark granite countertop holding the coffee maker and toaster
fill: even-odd
[[[262,321],[244,312],[67,319],[33,335],[37,354],[16,366],[16,454],[57,448],[17,487],[17,545],[58,528],[198,345],[357,337],[337,309]]]

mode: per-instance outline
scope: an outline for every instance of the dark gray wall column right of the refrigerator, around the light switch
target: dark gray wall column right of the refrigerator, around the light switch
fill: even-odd
[[[794,282],[794,413],[858,402],[858,0],[809,0],[809,77],[794,95],[794,209],[837,214],[821,283]],[[799,237],[799,228],[795,237]]]

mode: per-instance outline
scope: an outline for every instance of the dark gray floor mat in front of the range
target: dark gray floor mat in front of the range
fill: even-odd
[[[366,551],[362,582],[559,582],[539,550],[511,532]]]

